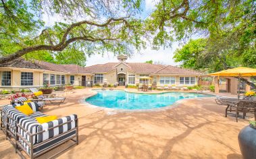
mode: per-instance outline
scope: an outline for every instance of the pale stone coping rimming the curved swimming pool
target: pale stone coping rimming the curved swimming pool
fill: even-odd
[[[141,113],[141,112],[159,112],[159,111],[163,111],[163,110],[168,110],[168,109],[171,109],[171,108],[176,108],[178,107],[179,104],[182,104],[182,102],[186,102],[186,100],[190,100],[192,98],[185,98],[185,99],[182,99],[182,100],[178,100],[176,102],[174,102],[173,104],[171,105],[168,105],[168,106],[163,106],[161,108],[150,108],[150,109],[131,109],[131,110],[128,110],[128,109],[118,109],[118,108],[106,108],[106,107],[102,107],[102,106],[96,106],[96,105],[93,105],[93,104],[90,104],[88,102],[86,102],[86,99],[87,98],[90,98],[92,96],[95,96],[97,94],[97,92],[95,90],[102,90],[101,88],[92,88],[90,91],[93,92],[93,94],[89,95],[89,96],[86,96],[85,98],[82,98],[80,99],[80,103],[81,104],[84,104],[84,106],[88,106],[88,107],[91,107],[91,108],[99,108],[99,110],[103,110],[105,111],[105,113],[107,115],[114,115],[116,113]],[[125,92],[129,92],[129,91],[126,91],[126,89],[119,89],[119,88],[116,88],[116,89],[113,89],[113,90],[123,90]],[[166,92],[158,92],[158,93],[153,93],[153,94],[164,94],[164,93],[168,93],[168,92],[180,92],[180,91],[166,91]],[[188,91],[182,91],[182,92],[187,92],[187,93],[199,93],[199,92],[188,92]],[[137,93],[137,92],[130,92],[130,93]],[[144,94],[143,92],[140,92],[140,94]],[[147,93],[146,93],[147,94]],[[148,94],[152,94],[152,93],[148,93]],[[199,94],[205,94],[205,93],[199,93]],[[215,97],[214,94],[208,94],[208,95],[213,95],[212,97],[200,97],[200,98],[193,98],[193,99],[204,99],[204,98],[213,98]]]

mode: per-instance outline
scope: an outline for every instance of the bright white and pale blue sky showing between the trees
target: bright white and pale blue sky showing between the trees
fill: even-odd
[[[145,0],[145,4],[143,7],[143,12],[141,13],[141,18],[146,18],[147,15],[151,13],[151,11],[155,8],[155,4],[158,0]],[[54,22],[58,22],[61,20],[60,17],[48,17],[47,15],[43,15],[43,20],[46,23],[46,26],[51,26]],[[158,51],[151,50],[150,46],[147,46],[147,49],[141,50],[140,53],[136,53],[128,58],[127,62],[135,62],[141,63],[149,60],[153,60],[155,63],[161,63],[163,65],[178,65],[172,59],[174,51],[178,48],[178,42],[174,42],[172,44],[172,48],[168,49],[159,49]],[[86,66],[96,65],[99,63],[109,63],[109,62],[118,62],[116,56],[113,53],[104,53],[103,55],[91,55],[91,57],[87,57]]]

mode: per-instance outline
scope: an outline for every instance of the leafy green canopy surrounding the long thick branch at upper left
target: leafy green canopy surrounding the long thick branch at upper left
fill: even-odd
[[[124,1],[0,1],[0,57],[30,46],[56,46],[49,51],[33,51],[25,59],[84,66],[86,57],[95,53],[134,53],[145,42],[141,40],[143,24],[134,15],[141,0]],[[59,16],[63,22],[45,26],[42,16]],[[55,51],[68,27],[76,18],[88,23],[70,30],[67,39],[78,38],[60,52]],[[123,18],[107,23],[109,18]],[[104,21],[104,20],[106,21]],[[82,21],[81,20],[81,21]]]

